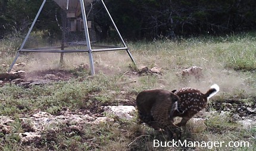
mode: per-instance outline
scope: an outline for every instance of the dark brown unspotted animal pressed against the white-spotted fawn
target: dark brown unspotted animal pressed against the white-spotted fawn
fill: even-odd
[[[178,102],[180,102],[179,97],[167,90],[142,91],[136,98],[140,122],[145,122],[155,130],[163,128],[169,137],[174,130],[174,137],[176,137],[178,127],[173,124],[173,113],[180,112]]]

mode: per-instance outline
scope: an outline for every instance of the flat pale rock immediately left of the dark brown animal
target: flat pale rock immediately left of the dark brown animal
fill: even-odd
[[[133,118],[133,112],[136,111],[135,106],[105,106],[104,111],[110,114],[114,114],[118,118],[130,120]]]

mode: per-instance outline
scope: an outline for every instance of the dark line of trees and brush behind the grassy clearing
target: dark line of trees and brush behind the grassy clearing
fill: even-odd
[[[17,35],[28,29],[35,18],[42,0],[1,0],[0,38]],[[94,1],[95,24],[101,28],[99,36],[111,36],[107,15],[104,15],[100,2]],[[255,30],[256,2],[239,1],[190,1],[190,0],[106,0],[111,15],[120,32],[126,39],[152,39],[159,36],[179,37]],[[46,1],[45,10],[36,29],[46,33],[60,32],[55,18],[60,17],[60,8],[54,1]],[[61,23],[61,22],[60,22]],[[45,25],[51,26],[45,26]],[[46,28],[46,29],[45,29]],[[97,30],[97,29],[95,29]],[[54,31],[54,32],[53,32]],[[48,33],[48,34],[49,34]]]

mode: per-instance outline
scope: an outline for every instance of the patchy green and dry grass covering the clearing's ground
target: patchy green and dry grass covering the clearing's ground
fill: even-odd
[[[17,62],[25,62],[21,68],[27,73],[35,70],[63,69],[74,74],[69,80],[54,81],[30,89],[15,84],[0,87],[0,114],[14,119],[10,134],[0,133],[1,150],[170,150],[168,147],[153,147],[153,140],[165,140],[152,128],[115,118],[114,122],[85,124],[79,132],[70,131],[67,124],[58,125],[57,131],[45,130],[41,139],[20,143],[17,133],[24,132],[19,118],[30,117],[36,111],[58,115],[64,108],[70,111],[100,112],[101,105],[119,105],[120,100],[135,103],[136,95],[145,89],[180,89],[195,87],[202,92],[213,84],[220,92],[210,100],[210,111],[215,111],[214,102],[235,100],[254,108],[256,88],[256,33],[227,35],[221,37],[192,37],[172,41],[129,42],[127,45],[138,68],[161,68],[162,76],[132,74],[137,70],[125,51],[93,52],[96,75],[89,76],[88,55],[65,54],[65,64],[58,64],[59,54],[24,54]],[[0,64],[10,65],[20,45],[20,40],[0,41]],[[85,65],[88,68],[82,68]],[[182,78],[176,73],[191,66],[203,68],[203,77]],[[77,68],[78,67],[78,68]],[[1,73],[7,67],[0,67]],[[238,103],[235,107],[239,105]],[[244,129],[232,121],[232,114],[208,117],[207,128],[200,131],[184,131],[182,140],[191,141],[249,141],[256,146],[256,129]],[[223,117],[224,116],[224,117]],[[188,127],[193,125],[188,124]],[[128,146],[129,144],[129,146]],[[255,150],[255,147],[174,147],[174,150]]]

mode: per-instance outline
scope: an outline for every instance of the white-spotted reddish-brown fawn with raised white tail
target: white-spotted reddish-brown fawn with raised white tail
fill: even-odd
[[[213,84],[210,89],[204,94],[197,89],[182,88],[180,90],[173,90],[172,92],[180,97],[180,111],[173,112],[174,117],[182,117],[182,120],[176,124],[178,127],[185,126],[193,115],[205,108],[207,100],[216,95],[220,90],[217,84]]]

